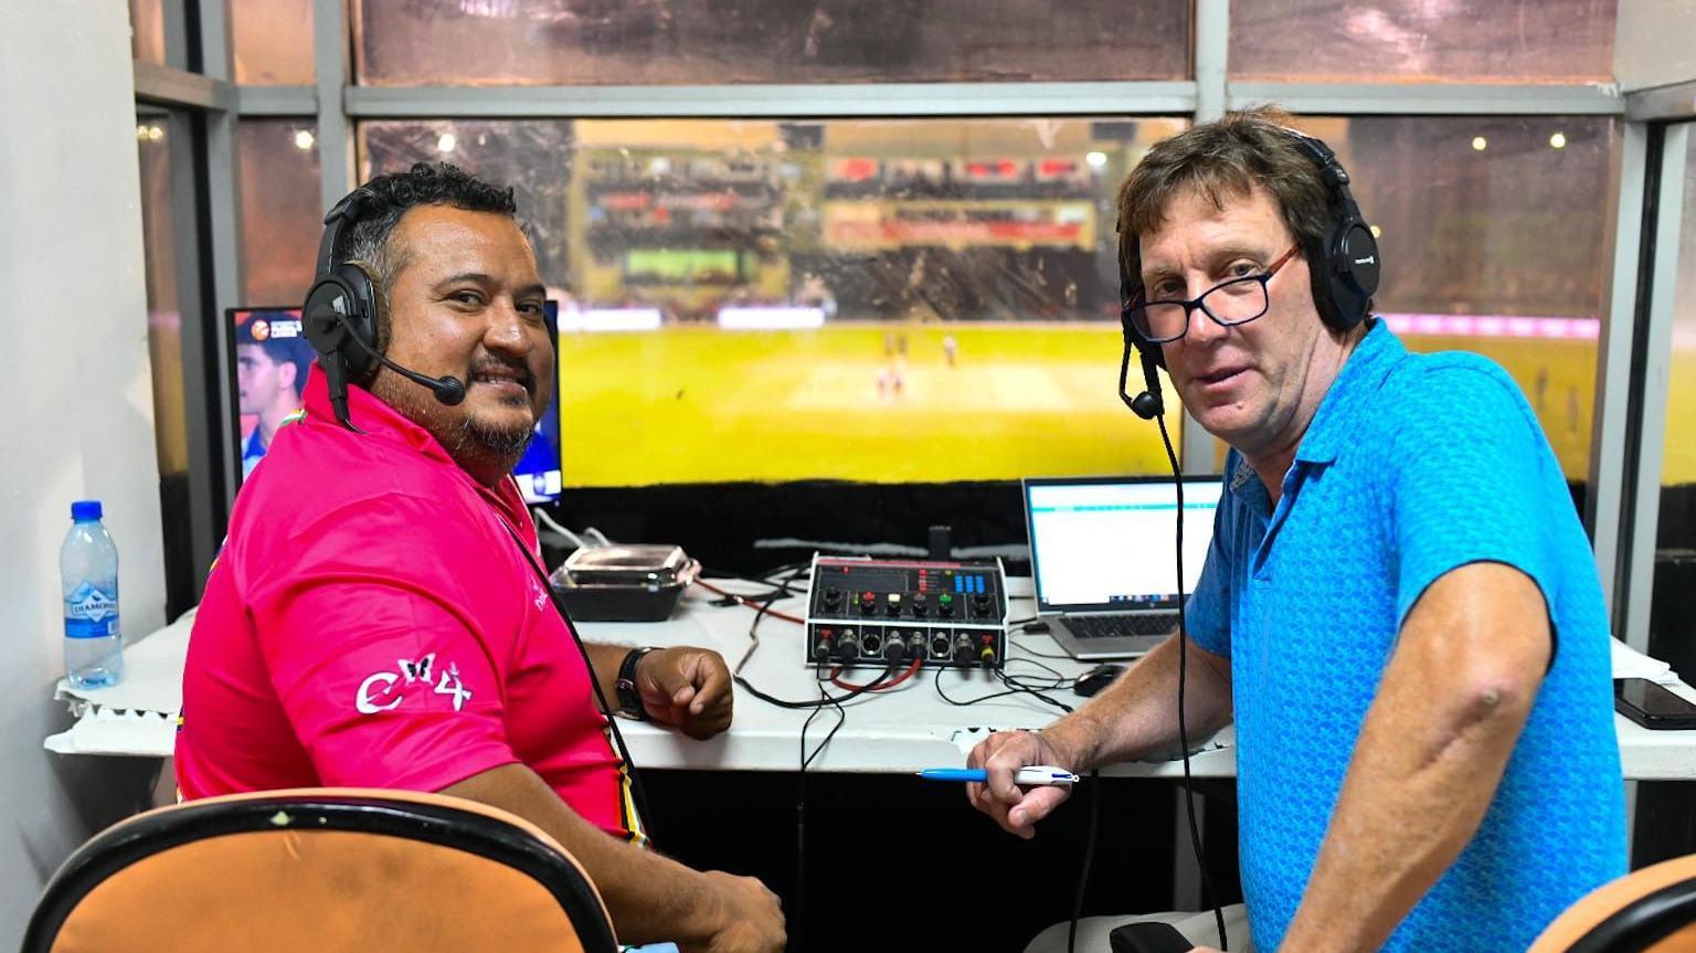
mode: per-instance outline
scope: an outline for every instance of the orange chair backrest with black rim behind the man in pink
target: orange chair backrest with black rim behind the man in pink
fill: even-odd
[[[434,794],[302,789],[119,822],[64,861],[22,953],[616,953],[541,829]]]

